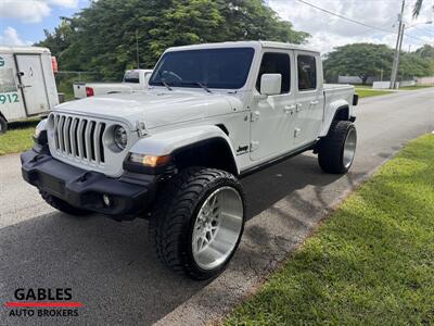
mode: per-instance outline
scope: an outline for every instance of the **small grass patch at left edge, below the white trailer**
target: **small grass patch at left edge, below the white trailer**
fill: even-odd
[[[9,124],[8,131],[0,135],[0,155],[29,149],[34,143],[31,135],[38,122],[39,120],[29,120]]]

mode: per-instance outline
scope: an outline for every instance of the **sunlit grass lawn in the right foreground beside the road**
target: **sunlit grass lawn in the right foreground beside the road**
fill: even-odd
[[[434,135],[354,192],[227,325],[434,325]]]

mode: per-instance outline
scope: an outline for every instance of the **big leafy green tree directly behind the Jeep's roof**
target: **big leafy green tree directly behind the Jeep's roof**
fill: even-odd
[[[38,46],[51,50],[61,70],[94,72],[105,80],[119,79],[137,61],[153,67],[169,47],[232,40],[303,43],[309,37],[261,0],[99,0],[44,34]]]

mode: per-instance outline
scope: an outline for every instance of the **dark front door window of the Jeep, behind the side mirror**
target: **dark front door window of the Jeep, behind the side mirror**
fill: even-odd
[[[260,62],[256,89],[260,90],[260,77],[264,74],[281,74],[282,88],[280,93],[290,92],[291,89],[291,61],[286,53],[264,53]]]

